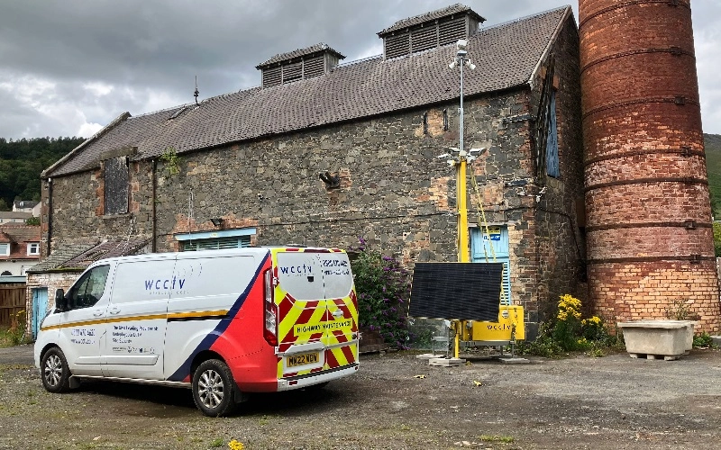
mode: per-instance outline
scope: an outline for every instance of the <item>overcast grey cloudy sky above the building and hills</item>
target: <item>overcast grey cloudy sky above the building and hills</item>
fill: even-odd
[[[87,138],[122,112],[193,102],[195,76],[200,100],[260,85],[256,65],[318,42],[344,62],[379,55],[378,31],[455,1],[0,0],[0,138]],[[578,2],[461,3],[484,26],[564,4],[578,21]],[[692,8],[704,131],[721,134],[721,0]]]

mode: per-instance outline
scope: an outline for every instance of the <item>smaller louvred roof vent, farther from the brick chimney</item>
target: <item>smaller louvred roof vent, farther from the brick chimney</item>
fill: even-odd
[[[283,85],[327,74],[345,58],[324,43],[297,49],[270,58],[255,68],[262,72],[263,87]]]

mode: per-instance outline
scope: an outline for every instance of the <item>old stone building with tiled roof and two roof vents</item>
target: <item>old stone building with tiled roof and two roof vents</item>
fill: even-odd
[[[487,148],[470,166],[468,251],[488,253],[480,201],[533,336],[558,295],[586,292],[579,35],[570,7],[483,21],[453,4],[379,31],[379,57],[340,63],[318,44],[259,64],[258,87],[124,112],[43,172],[43,252],[96,238],[172,251],[363,237],[409,266],[455,261],[455,175],[437,156],[458,146],[449,63],[463,39],[478,67],[464,72],[465,148]]]

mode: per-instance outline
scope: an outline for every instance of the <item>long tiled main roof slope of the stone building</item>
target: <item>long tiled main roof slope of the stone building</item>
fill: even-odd
[[[570,6],[487,27],[469,38],[476,70],[464,71],[464,95],[527,85]],[[124,112],[42,174],[67,175],[99,167],[106,151],[137,147],[131,158],[159,157],[246,139],[357,120],[459,97],[459,73],[448,64],[455,44],[384,60],[368,58],[324,76],[254,87],[131,117]],[[170,117],[185,108],[177,117]]]

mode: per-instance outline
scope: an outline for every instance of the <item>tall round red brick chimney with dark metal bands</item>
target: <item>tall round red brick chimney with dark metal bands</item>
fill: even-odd
[[[580,0],[590,299],[721,322],[689,0]],[[698,331],[698,328],[697,328]]]

